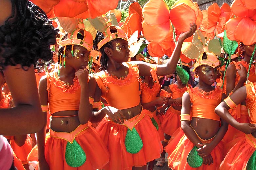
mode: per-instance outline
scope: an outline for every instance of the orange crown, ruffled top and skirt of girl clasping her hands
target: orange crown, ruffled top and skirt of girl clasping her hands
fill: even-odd
[[[207,59],[202,59],[203,54],[207,54]],[[219,66],[219,61],[211,52],[204,52],[199,56],[199,59],[194,64],[195,69],[200,65],[208,65],[213,68]],[[215,88],[210,92],[205,92],[198,87],[190,88],[185,93],[189,93],[191,102],[191,114],[182,114],[181,121],[191,120],[191,117],[212,119],[220,121],[220,117],[214,112],[215,107],[221,102],[222,90]],[[202,105],[202,103],[204,103]],[[194,130],[195,131],[195,130]],[[198,139],[202,143],[210,143],[215,136],[210,139],[202,139],[195,131]],[[183,130],[180,128],[174,134],[165,151],[168,153],[168,165],[174,170],[194,169],[198,170],[216,170],[219,168],[221,161],[224,159],[224,145],[219,142],[211,151],[213,163],[211,165],[202,164],[203,159],[197,155],[195,145],[187,138]],[[192,154],[194,153],[194,154]],[[191,161],[193,160],[193,161]]]

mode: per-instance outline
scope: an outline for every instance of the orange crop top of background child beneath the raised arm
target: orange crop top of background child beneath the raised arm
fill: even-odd
[[[153,100],[156,100],[157,94],[159,93],[160,88],[161,87],[159,83],[154,83],[152,88],[148,87],[147,83],[142,83],[141,85],[142,103],[149,103]]]

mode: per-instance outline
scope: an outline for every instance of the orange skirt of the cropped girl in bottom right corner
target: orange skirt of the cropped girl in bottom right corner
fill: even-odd
[[[253,142],[256,144],[256,139],[251,134],[244,134],[235,140],[237,143],[227,153],[220,170],[246,170],[246,164],[255,151]]]

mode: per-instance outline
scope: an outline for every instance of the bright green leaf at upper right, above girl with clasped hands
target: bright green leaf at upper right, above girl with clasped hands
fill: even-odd
[[[229,40],[227,38],[227,32],[224,30],[224,35],[223,35],[223,50],[225,53],[232,55],[235,53],[236,49],[238,47],[238,44],[236,41]]]

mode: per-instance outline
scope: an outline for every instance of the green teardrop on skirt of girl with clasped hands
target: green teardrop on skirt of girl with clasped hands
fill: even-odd
[[[203,163],[203,158],[198,155],[197,149],[198,148],[194,146],[187,156],[187,163],[192,168],[198,168]]]

